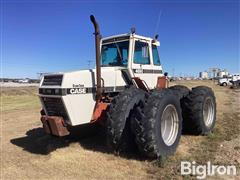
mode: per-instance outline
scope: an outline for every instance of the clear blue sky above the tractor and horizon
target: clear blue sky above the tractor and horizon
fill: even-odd
[[[136,27],[159,34],[164,71],[197,75],[209,67],[239,72],[239,1],[1,1],[4,77],[94,66],[94,14],[101,34]]]

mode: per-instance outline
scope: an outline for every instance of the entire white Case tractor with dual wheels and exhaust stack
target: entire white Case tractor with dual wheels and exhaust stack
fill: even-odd
[[[115,152],[134,144],[148,157],[176,150],[182,131],[208,134],[216,120],[213,91],[168,88],[155,38],[129,34],[101,38],[94,16],[96,68],[45,75],[39,87],[41,121],[48,134],[65,136],[71,126],[101,123]]]

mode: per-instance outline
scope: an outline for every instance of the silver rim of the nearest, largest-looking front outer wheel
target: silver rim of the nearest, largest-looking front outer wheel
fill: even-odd
[[[169,104],[165,107],[161,117],[161,135],[164,143],[171,146],[178,134],[179,119],[174,105]]]

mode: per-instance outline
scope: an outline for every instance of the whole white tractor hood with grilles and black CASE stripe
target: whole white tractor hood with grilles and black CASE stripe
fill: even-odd
[[[105,93],[126,88],[123,67],[102,67]],[[45,75],[40,83],[39,98],[47,116],[58,116],[76,126],[90,123],[96,104],[96,70],[80,70]]]

